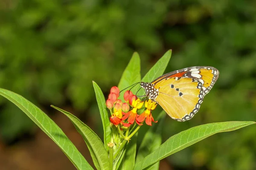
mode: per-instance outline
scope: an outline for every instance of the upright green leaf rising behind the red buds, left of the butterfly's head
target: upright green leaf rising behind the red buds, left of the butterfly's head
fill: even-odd
[[[124,88],[127,88],[129,85],[140,82],[140,80],[140,56],[137,52],[135,52],[122,74],[122,77],[118,84],[118,88],[122,90]]]

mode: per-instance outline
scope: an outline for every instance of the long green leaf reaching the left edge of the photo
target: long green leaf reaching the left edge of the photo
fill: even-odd
[[[13,102],[20,108],[33,122],[35,122],[41,130],[44,131],[65,153],[70,161],[79,170],[93,170],[93,168],[84,159],[81,153],[77,150],[75,145],[67,138],[65,133],[61,130],[55,122],[52,121],[43,111],[41,111],[34,104],[29,102],[24,97],[0,88],[0,95]]]

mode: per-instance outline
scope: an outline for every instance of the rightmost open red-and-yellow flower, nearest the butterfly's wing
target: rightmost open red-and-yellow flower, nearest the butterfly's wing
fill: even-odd
[[[155,123],[157,122],[157,121],[154,121],[154,118],[151,114],[151,111],[157,107],[157,103],[153,102],[151,99],[149,99],[148,101],[145,102],[145,107],[147,109],[143,113],[141,113],[140,116],[138,116],[137,121],[143,122],[146,119],[146,121],[145,121],[146,124],[151,126],[152,121]]]

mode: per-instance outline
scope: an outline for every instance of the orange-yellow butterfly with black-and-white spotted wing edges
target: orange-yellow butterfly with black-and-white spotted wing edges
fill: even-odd
[[[164,74],[151,83],[140,82],[140,86],[145,96],[157,102],[172,119],[184,122],[198,112],[218,75],[214,67],[188,67]]]

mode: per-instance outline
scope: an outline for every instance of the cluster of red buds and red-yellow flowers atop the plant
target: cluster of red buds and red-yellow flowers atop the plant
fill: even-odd
[[[138,125],[142,125],[142,122],[146,122],[147,125],[152,125],[154,121],[151,111],[154,110],[157,106],[156,102],[152,100],[145,101],[145,111],[140,115],[137,114],[138,109],[143,107],[144,101],[141,101],[134,95],[131,91],[125,91],[124,100],[119,98],[119,88],[116,86],[111,88],[110,94],[106,101],[107,108],[111,111],[110,121],[113,125],[123,125],[129,127],[134,122]]]

